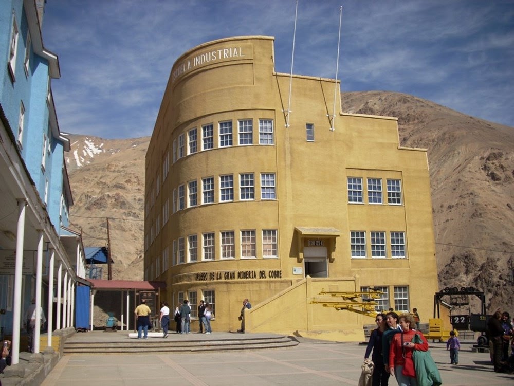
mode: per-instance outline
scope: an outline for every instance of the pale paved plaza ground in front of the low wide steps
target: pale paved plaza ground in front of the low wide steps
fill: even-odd
[[[234,338],[229,333],[213,333],[209,338],[225,336]],[[299,344],[286,348],[159,354],[145,354],[148,341],[136,339],[140,354],[64,355],[43,386],[358,385],[365,345],[295,339]],[[472,344],[462,343],[459,364],[454,366],[449,364],[445,343],[430,343],[444,385],[514,385],[514,375],[494,373],[489,354],[471,352]],[[390,378],[389,384],[397,383]]]

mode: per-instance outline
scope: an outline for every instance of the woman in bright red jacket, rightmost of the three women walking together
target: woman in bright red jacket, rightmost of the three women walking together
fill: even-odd
[[[396,376],[398,386],[417,386],[412,352],[414,350],[428,351],[427,339],[414,327],[416,323],[410,314],[400,314],[399,324],[401,333],[395,334],[389,350],[389,373]],[[411,342],[418,335],[423,343]]]

